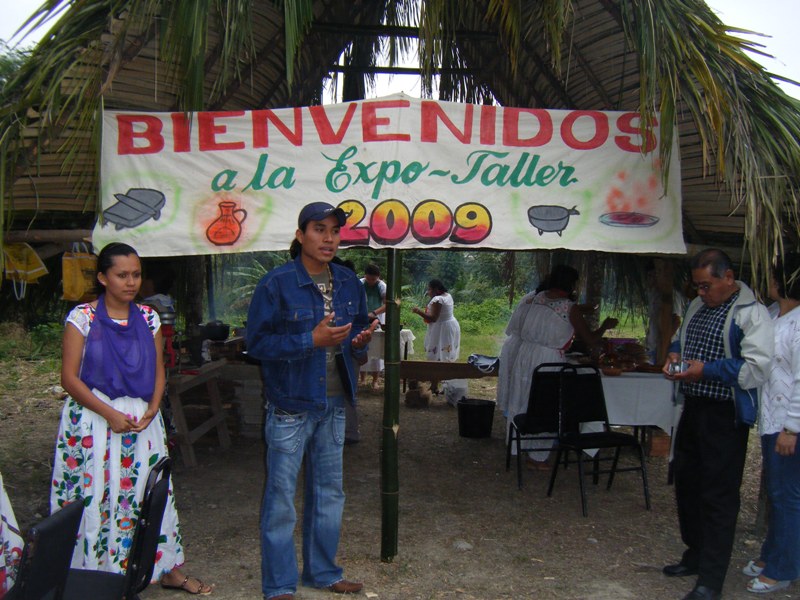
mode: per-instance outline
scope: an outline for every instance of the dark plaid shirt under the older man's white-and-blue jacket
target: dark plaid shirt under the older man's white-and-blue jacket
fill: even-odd
[[[725,358],[725,319],[739,297],[734,293],[727,301],[714,308],[701,306],[686,327],[686,343],[683,349],[684,360],[700,360],[704,363]],[[686,396],[700,396],[715,400],[732,400],[731,388],[718,381],[701,379],[694,383],[681,383],[681,391]]]

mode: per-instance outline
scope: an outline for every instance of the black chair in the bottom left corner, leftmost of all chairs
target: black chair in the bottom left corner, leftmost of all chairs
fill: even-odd
[[[14,587],[5,600],[63,598],[82,516],[83,502],[72,502],[31,527]]]

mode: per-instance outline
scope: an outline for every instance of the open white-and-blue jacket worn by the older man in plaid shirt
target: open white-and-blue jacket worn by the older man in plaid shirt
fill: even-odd
[[[725,319],[725,356],[703,365],[703,379],[729,385],[736,408],[736,421],[752,426],[758,416],[759,388],[769,375],[775,340],[772,320],[766,307],[756,300],[755,294],[744,282],[736,283],[739,285],[739,297]],[[699,297],[692,300],[670,345],[670,352],[681,352],[689,321],[701,306]]]

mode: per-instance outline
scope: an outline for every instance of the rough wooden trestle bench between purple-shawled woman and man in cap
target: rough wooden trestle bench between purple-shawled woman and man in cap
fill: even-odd
[[[183,462],[187,467],[197,466],[197,457],[194,453],[193,444],[215,427],[219,437],[220,448],[224,450],[231,446],[231,437],[228,432],[228,424],[225,421],[225,411],[222,408],[222,398],[218,386],[222,368],[226,363],[225,359],[215,360],[193,370],[196,372],[187,373],[184,371],[181,373],[173,371],[167,376],[169,403],[172,409],[172,419],[177,430],[176,438],[181,449]],[[203,384],[205,384],[208,391],[211,416],[190,430],[183,410],[184,399],[189,391]]]

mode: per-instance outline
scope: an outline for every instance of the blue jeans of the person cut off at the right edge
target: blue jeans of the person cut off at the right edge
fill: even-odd
[[[777,433],[761,436],[770,501],[761,560],[765,577],[787,581],[800,578],[800,444],[793,455],[781,456],[775,452],[777,439]]]

